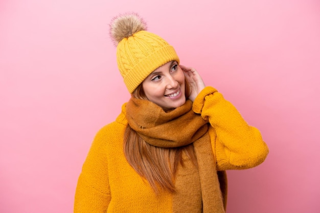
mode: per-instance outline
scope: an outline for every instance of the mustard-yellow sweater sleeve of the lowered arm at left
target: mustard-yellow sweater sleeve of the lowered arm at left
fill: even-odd
[[[106,212],[111,196],[103,131],[94,139],[76,188],[74,212]]]

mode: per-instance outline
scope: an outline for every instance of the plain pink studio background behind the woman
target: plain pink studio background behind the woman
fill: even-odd
[[[108,35],[127,11],[269,145],[228,172],[228,212],[319,212],[320,2],[110,2],[0,1],[0,212],[73,211],[90,144],[129,98]]]

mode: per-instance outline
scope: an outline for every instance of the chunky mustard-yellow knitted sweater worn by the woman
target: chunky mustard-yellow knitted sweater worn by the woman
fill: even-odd
[[[94,139],[78,180],[74,212],[201,212],[201,193],[189,195],[188,189],[177,192],[186,195],[184,202],[175,202],[176,196],[166,191],[156,195],[127,163],[123,153],[128,123],[125,106],[116,121],[104,126]],[[259,130],[249,126],[221,93],[204,88],[192,109],[211,124],[209,135],[217,170],[248,169],[264,161],[268,147]],[[194,169],[191,163],[185,165],[182,169]],[[199,188],[199,177],[190,178],[193,187]]]

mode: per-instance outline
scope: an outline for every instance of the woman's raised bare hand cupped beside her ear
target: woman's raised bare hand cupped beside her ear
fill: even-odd
[[[182,71],[184,71],[185,77],[187,78],[187,81],[190,86],[191,93],[190,93],[189,99],[194,101],[197,95],[205,87],[203,80],[196,69],[192,67],[186,67],[184,65],[179,65],[179,66],[181,67]]]

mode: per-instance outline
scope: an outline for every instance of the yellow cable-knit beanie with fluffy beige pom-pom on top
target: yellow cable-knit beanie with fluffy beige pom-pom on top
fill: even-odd
[[[136,13],[112,19],[110,35],[117,45],[117,63],[130,93],[156,68],[179,58],[174,48],[163,38],[150,33],[146,23]]]

